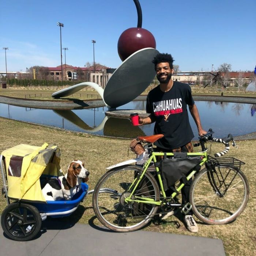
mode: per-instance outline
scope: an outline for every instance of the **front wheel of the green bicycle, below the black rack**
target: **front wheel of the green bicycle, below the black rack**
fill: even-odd
[[[207,224],[226,224],[236,219],[249,199],[249,184],[240,170],[218,166],[213,172],[215,184],[209,182],[210,172],[204,168],[193,180],[189,200],[197,218]]]

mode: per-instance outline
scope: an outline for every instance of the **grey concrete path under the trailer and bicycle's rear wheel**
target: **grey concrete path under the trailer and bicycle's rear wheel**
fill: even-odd
[[[157,251],[158,248],[158,251]],[[33,241],[6,238],[0,227],[3,256],[225,256],[222,240],[196,236],[134,231],[115,233],[97,226],[67,223],[59,219],[42,222]]]

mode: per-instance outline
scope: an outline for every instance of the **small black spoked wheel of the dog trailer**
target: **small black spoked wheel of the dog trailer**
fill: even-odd
[[[1,226],[9,238],[16,241],[33,239],[41,228],[41,216],[34,206],[11,203],[1,215]]]

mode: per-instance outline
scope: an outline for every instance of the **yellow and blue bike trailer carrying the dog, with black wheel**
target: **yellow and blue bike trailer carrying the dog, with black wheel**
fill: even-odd
[[[1,215],[1,226],[7,237],[17,241],[34,238],[47,216],[70,215],[87,194],[88,185],[82,183],[72,200],[45,200],[42,194],[45,182],[64,175],[60,170],[60,149],[53,144],[44,143],[41,147],[20,144],[4,150],[0,167],[8,204]],[[10,199],[14,202],[10,203]]]

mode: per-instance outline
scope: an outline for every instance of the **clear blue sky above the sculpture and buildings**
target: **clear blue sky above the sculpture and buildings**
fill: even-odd
[[[211,71],[256,65],[255,0],[139,0],[142,27],[155,37],[159,52],[171,53],[181,71]],[[95,62],[117,68],[121,33],[137,26],[133,0],[1,0],[0,71],[26,71],[34,65],[60,65],[60,27],[67,64]],[[64,51],[63,51],[64,63]]]

